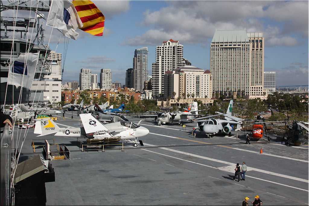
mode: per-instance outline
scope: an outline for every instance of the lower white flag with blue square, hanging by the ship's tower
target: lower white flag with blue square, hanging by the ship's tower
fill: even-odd
[[[20,53],[9,70],[7,84],[22,86],[31,90],[39,53]]]

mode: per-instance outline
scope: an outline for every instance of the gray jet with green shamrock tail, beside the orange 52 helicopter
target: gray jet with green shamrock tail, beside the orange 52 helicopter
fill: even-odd
[[[218,115],[206,116],[197,118],[197,127],[201,132],[206,134],[206,138],[210,138],[214,134],[228,134],[231,136],[231,131],[241,129],[243,119],[232,116],[233,99],[231,99],[226,113],[216,112]],[[224,119],[213,119],[215,116],[224,116]],[[235,128],[236,127],[236,128]],[[194,128],[193,128],[194,129]]]

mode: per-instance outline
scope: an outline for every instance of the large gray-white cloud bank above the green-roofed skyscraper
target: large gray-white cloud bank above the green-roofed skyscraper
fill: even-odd
[[[246,28],[247,32],[269,36],[269,44],[265,46],[291,47],[299,44],[293,32],[301,32],[303,36],[308,33],[308,19],[304,18],[308,16],[308,2],[305,1],[171,1],[167,4],[158,11],[145,11],[140,26],[150,29],[138,36],[128,36],[122,44],[157,45],[169,39],[182,44],[205,44],[216,29]],[[273,31],[274,23],[280,27]],[[289,42],[282,44],[283,41]]]

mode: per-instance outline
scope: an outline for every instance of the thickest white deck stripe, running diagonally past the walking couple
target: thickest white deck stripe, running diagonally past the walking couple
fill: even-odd
[[[144,143],[144,145],[156,146],[156,145],[150,145],[150,144],[145,144],[145,143]],[[182,151],[179,151],[179,150],[170,149],[170,148],[166,148],[166,147],[160,147],[160,149],[165,149],[165,150],[168,150],[168,151],[171,151],[171,152],[185,154],[185,155],[188,155],[188,156],[192,156],[192,157],[196,157],[196,158],[201,158],[201,159],[205,159],[205,160],[210,160],[210,161],[214,161],[214,162],[220,162],[220,163],[223,163],[223,164],[226,164],[226,165],[235,165],[235,163],[232,163],[232,162],[226,162],[226,161],[222,161],[222,160],[218,160],[218,159],[214,159],[214,158],[208,158],[208,157],[204,157],[204,156],[201,156],[201,155],[187,153],[187,152],[182,152]],[[215,168],[219,169],[219,170],[229,171],[229,170],[222,169],[220,167],[219,168],[215,167]],[[298,178],[298,177],[292,177],[292,176],[288,176],[288,175],[285,175],[285,174],[279,174],[279,173],[275,173],[275,172],[260,170],[260,169],[253,168],[253,167],[250,167],[250,170],[255,170],[257,172],[261,172],[261,173],[265,173],[265,174],[271,174],[271,175],[275,175],[275,176],[278,176],[278,177],[294,179],[294,180],[297,180],[297,181],[308,183],[307,179],[302,179],[302,178]]]

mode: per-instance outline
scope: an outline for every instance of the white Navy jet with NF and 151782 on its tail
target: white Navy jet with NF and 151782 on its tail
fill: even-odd
[[[36,121],[34,133],[39,134],[39,136],[54,134],[54,136],[61,137],[87,137],[88,144],[127,140],[132,141],[134,147],[138,144],[143,146],[142,141],[138,143],[138,137],[149,133],[147,128],[139,126],[142,120],[138,124],[130,121],[120,121],[104,125],[90,113],[80,114],[79,116],[83,122],[83,127],[72,128],[57,124],[51,119],[40,119]],[[60,128],[58,125],[66,127]]]

